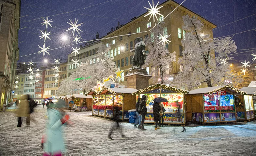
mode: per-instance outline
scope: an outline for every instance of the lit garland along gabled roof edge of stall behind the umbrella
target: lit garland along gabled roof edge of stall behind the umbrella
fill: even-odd
[[[162,89],[165,89],[165,90],[169,90],[169,91],[175,91],[177,93],[183,93],[183,94],[187,94],[188,92],[185,91],[185,90],[182,90],[182,89],[178,89],[178,88],[174,88],[174,87],[168,87],[166,85],[163,85],[163,84],[155,84],[155,85],[152,85],[152,86],[149,86],[148,88],[144,88],[144,89],[140,89],[140,90],[137,90],[136,92],[133,92],[132,94],[133,95],[136,95],[136,94],[140,94],[140,93],[143,93],[143,92],[148,92],[148,91],[151,91],[151,90],[154,90],[156,88],[162,88]]]

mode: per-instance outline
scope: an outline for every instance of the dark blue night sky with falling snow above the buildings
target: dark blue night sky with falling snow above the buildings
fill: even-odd
[[[160,0],[160,3],[165,1]],[[154,2],[157,3],[158,1],[154,0]],[[176,2],[181,3],[183,0],[176,0]],[[151,0],[150,3],[152,3]],[[256,54],[255,0],[186,0],[183,5],[217,25],[217,28],[213,30],[214,38],[232,36],[232,34],[247,31],[233,36],[232,39],[236,42],[237,53],[239,53],[233,57],[234,63],[239,63],[245,59],[251,61],[253,58],[251,53]],[[40,24],[43,22],[41,17],[51,16],[49,19],[53,19],[51,22],[53,28],[47,28],[47,32],[51,31],[52,33],[50,35],[51,40],[46,40],[46,45],[55,49],[74,43],[72,43],[71,31],[66,32],[70,27],[67,23],[70,18],[72,21],[75,18],[78,19],[78,23],[84,22],[79,27],[83,31],[80,34],[84,40],[91,40],[95,38],[97,31],[100,36],[106,35],[111,27],[117,26],[117,21],[120,21],[120,24],[125,24],[133,17],[145,13],[147,10],[143,6],[149,7],[148,0],[21,0],[19,62],[28,62],[31,59],[33,62],[43,62],[45,58],[49,62],[53,62],[53,58],[67,59],[68,53],[72,51],[72,46],[67,46],[49,50],[51,56],[42,57],[42,53],[28,55],[38,52],[40,50],[38,45],[43,46],[44,40],[39,37],[39,30],[44,31],[45,29],[45,26]],[[69,40],[63,41],[61,39],[63,35],[66,35]],[[84,45],[84,43],[77,44],[78,47],[79,45]],[[24,55],[28,56],[22,57]]]

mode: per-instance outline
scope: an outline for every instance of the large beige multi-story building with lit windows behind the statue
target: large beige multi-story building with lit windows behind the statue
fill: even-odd
[[[159,9],[160,13],[164,15],[165,17],[170,13],[172,10],[174,10],[179,4],[169,0],[159,5],[159,7],[164,6]],[[130,22],[119,25],[116,28],[111,28],[111,32],[109,32],[106,36],[103,38],[107,38],[102,40],[106,46],[111,45],[111,50],[109,51],[109,56],[114,57],[114,62],[117,66],[120,66],[120,69],[124,70],[124,73],[122,73],[122,82],[124,85],[127,85],[127,81],[123,78],[125,75],[128,74],[129,68],[132,66],[133,63],[133,55],[134,52],[130,52],[130,50],[134,49],[136,42],[136,37],[141,37],[142,39],[146,37],[156,37],[158,34],[152,34],[150,32],[145,32],[150,30],[154,26],[153,18],[149,20],[149,16],[144,17],[148,12],[140,15],[139,17],[135,17],[131,19]],[[212,29],[216,27],[213,23],[210,21],[207,21],[200,15],[194,13],[193,11],[187,9],[184,6],[180,6],[177,8],[172,14],[170,14],[164,21],[164,17],[160,17],[158,21],[163,21],[163,30],[165,34],[168,34],[170,36],[170,43],[167,45],[167,48],[169,52],[176,52],[177,60],[180,56],[182,56],[182,44],[181,40],[184,38],[186,30],[182,29],[183,26],[183,20],[182,17],[184,15],[190,15],[190,16],[197,16],[199,20],[201,20],[204,24],[203,32],[205,34],[209,34],[210,37],[213,38],[213,31]],[[158,22],[156,21],[156,22]],[[143,32],[143,33],[140,33]],[[133,34],[138,33],[138,34]],[[130,35],[133,34],[133,35]],[[119,35],[125,35],[125,36],[119,36]],[[108,38],[113,36],[119,36],[114,38]],[[148,48],[146,47],[146,50]],[[148,51],[146,51],[147,53]],[[214,52],[212,53],[215,57]],[[176,61],[177,62],[177,61]],[[180,71],[181,66],[175,62],[171,63],[173,66],[172,71],[169,72],[169,74],[175,74]],[[151,66],[146,67],[146,70],[148,73],[151,73]],[[152,85],[153,78],[159,79],[159,73],[155,73],[155,75],[152,75],[152,78],[149,80],[149,84]]]

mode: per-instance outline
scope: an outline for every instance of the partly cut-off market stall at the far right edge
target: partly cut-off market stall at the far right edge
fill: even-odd
[[[240,91],[246,92],[248,95],[235,96],[236,119],[237,121],[252,121],[255,119],[253,96],[255,95],[256,87],[243,87]]]

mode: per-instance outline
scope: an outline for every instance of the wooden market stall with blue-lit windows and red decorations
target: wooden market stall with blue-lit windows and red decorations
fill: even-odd
[[[190,91],[186,97],[188,121],[201,123],[236,122],[234,95],[245,95],[232,86],[215,86]]]

